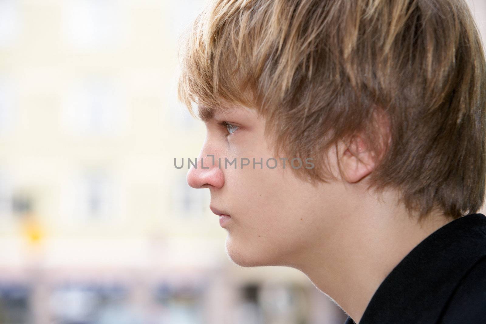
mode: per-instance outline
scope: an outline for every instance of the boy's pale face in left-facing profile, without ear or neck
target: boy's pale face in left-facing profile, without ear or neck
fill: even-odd
[[[225,121],[231,126],[221,125]],[[213,212],[230,216],[222,226],[227,231],[226,253],[233,262],[246,267],[298,268],[312,257],[312,248],[322,250],[326,240],[339,239],[333,234],[343,222],[341,215],[359,207],[347,198],[347,190],[351,190],[347,182],[314,186],[295,175],[290,161],[284,167],[278,158],[277,167],[268,168],[266,161],[273,157],[271,144],[264,136],[264,119],[254,110],[215,111],[205,123],[207,135],[198,167],[191,168],[187,181],[193,188],[209,188]],[[335,151],[330,154],[334,163]],[[208,169],[201,168],[201,158]],[[225,168],[225,158],[236,158],[237,168]],[[242,168],[241,158],[248,158],[250,165]],[[253,158],[262,159],[261,168],[259,164],[253,168]],[[270,160],[269,166],[273,168],[275,161]]]

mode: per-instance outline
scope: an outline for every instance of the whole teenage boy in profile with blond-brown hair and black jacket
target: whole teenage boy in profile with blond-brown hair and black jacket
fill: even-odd
[[[486,63],[463,0],[214,0],[179,99],[237,265],[305,273],[347,323],[484,323]],[[203,160],[203,161],[201,161]]]

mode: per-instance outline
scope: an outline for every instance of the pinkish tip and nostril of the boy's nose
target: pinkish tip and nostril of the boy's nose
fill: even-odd
[[[188,161],[189,162],[189,161]],[[196,167],[191,164],[186,179],[192,188],[222,188],[225,184],[223,171],[218,167],[217,158],[213,165],[211,156],[198,157]]]

